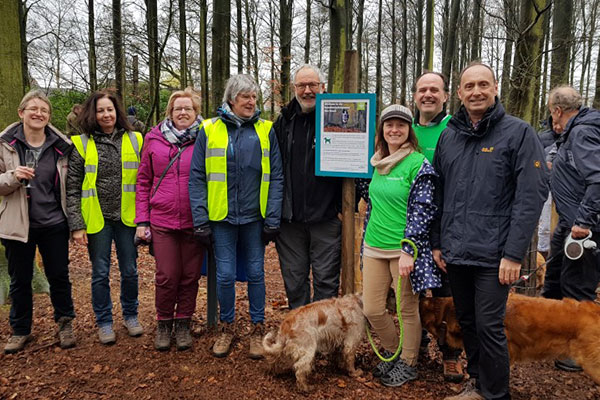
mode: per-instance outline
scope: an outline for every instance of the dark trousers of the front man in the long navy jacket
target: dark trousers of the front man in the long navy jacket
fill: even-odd
[[[510,399],[510,363],[504,332],[509,285],[498,268],[448,265],[456,316],[467,353],[467,371],[483,397]]]

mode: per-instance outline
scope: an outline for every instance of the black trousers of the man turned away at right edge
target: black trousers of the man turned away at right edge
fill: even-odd
[[[564,246],[570,233],[571,227],[562,224],[554,230],[542,296],[558,300],[563,297],[579,301],[596,300],[596,287],[600,280],[599,252],[585,250],[580,259],[568,259]],[[592,240],[600,245],[600,233],[593,232]]]

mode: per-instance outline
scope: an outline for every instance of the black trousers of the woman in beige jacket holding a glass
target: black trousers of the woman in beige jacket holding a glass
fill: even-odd
[[[10,275],[10,326],[15,335],[31,333],[33,315],[33,260],[36,246],[40,249],[46,278],[50,284],[50,300],[54,320],[75,317],[71,282],[69,281],[69,227],[61,223],[47,228],[30,228],[29,241],[2,239]]]

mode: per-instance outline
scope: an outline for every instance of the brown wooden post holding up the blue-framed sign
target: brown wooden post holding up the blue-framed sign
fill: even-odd
[[[344,93],[358,91],[358,53],[344,54]],[[342,184],[342,294],[354,293],[354,179]]]

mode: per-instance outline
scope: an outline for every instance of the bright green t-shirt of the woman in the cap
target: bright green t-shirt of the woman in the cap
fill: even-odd
[[[411,153],[387,175],[373,173],[369,185],[371,216],[365,233],[365,242],[371,247],[384,250],[401,249],[406,228],[406,208],[410,188],[425,156]]]

